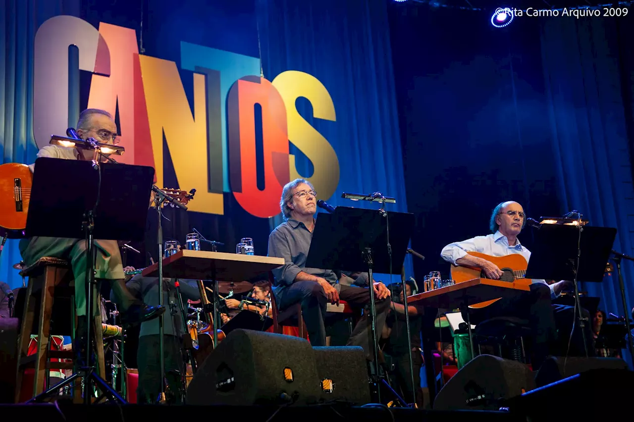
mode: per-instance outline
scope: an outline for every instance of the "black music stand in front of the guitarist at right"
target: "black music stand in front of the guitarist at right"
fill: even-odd
[[[565,226],[541,224],[533,231],[534,252],[531,253],[526,278],[571,280],[583,345],[588,356],[585,322],[579,302],[579,281],[600,283],[610,257],[616,229],[612,227]]]

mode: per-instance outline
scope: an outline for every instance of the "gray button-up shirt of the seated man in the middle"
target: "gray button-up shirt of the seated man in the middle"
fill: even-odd
[[[330,269],[307,268],[306,259],[308,251],[311,248],[313,233],[307,229],[304,223],[294,219],[283,222],[269,234],[269,257],[283,258],[284,265],[273,270],[275,276],[275,286],[285,288],[295,281],[295,277],[300,272],[306,272],[311,276],[324,278],[331,285],[339,290],[337,272]],[[353,279],[347,277],[344,272],[342,282],[346,284],[354,284],[358,286],[366,285],[368,274],[363,273],[361,276]]]

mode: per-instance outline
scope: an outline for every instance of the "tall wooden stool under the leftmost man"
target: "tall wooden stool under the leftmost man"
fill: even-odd
[[[63,259],[42,257],[37,262],[20,272],[23,277],[29,278],[27,294],[24,302],[20,337],[18,339],[18,373],[16,376],[15,401],[19,402],[22,390],[24,370],[34,368],[33,396],[44,392],[46,374],[49,369],[74,369],[74,362],[50,362],[51,358],[70,359],[74,361],[72,350],[49,350],[50,323],[53,315],[53,303],[55,302],[55,289],[72,289],[74,291],[74,278],[70,270],[70,264]],[[39,297],[39,306],[37,306]],[[37,352],[27,355],[31,335],[35,334],[34,322],[37,319]],[[74,316],[73,312],[73,316]],[[69,316],[70,319],[70,316]],[[105,377],[105,365],[103,358],[103,336],[101,335],[101,316],[95,316],[94,326],[99,327],[93,331],[96,335],[96,354],[98,359],[99,374]],[[76,324],[73,324],[73,328]],[[74,333],[72,338],[74,338]],[[47,386],[52,387],[52,386]],[[81,385],[75,385],[75,399],[81,399]],[[79,394],[78,394],[79,393]]]

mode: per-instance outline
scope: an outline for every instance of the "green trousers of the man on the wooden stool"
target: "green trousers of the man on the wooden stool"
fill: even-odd
[[[86,315],[86,240],[37,237],[20,240],[20,255],[24,263],[34,264],[42,257],[60,258],[70,261],[75,277],[75,309],[77,316]],[[96,279],[123,279],[123,265],[119,245],[115,240],[95,240]],[[100,304],[93,295],[94,314],[100,312]]]

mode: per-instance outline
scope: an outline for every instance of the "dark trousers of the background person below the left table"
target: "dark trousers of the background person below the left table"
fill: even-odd
[[[137,361],[139,367],[139,387],[136,390],[138,404],[154,404],[160,395],[160,336],[158,334],[139,337]],[[181,403],[181,371],[183,354],[178,337],[165,335],[165,380],[167,387],[165,400]]]

